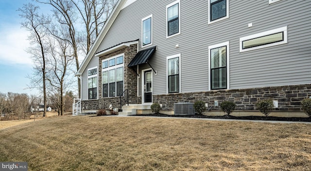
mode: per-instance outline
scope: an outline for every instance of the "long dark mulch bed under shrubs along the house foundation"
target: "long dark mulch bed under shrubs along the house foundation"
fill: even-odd
[[[245,116],[245,117],[235,117],[235,116],[206,116],[206,115],[166,115],[166,114],[143,114],[136,116],[150,116],[150,117],[181,117],[181,118],[209,118],[209,119],[224,119],[224,120],[278,120],[278,121],[303,121],[311,122],[311,118],[286,118],[286,117],[265,117],[265,116]]]

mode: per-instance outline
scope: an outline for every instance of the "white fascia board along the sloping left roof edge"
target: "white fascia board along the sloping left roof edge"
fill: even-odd
[[[82,75],[82,73],[86,69],[86,66],[88,65],[89,61],[94,56],[97,48],[99,47],[99,45],[103,41],[105,35],[107,34],[108,30],[110,29],[112,23],[115,21],[115,19],[119,15],[119,13],[120,13],[125,2],[126,2],[126,0],[118,0],[116,7],[113,9],[113,11],[111,12],[111,15],[108,17],[107,22],[105,23],[100,34],[96,38],[96,40],[95,40],[94,44],[92,45],[90,51],[88,51],[88,53],[86,54],[86,57],[84,58],[83,62],[81,63],[76,75]]]

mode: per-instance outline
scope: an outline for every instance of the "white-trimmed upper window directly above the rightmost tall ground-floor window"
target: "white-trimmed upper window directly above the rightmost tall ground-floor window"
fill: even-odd
[[[229,0],[208,0],[208,24],[229,17]]]

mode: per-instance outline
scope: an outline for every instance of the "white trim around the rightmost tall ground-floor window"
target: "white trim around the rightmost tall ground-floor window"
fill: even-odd
[[[224,42],[224,43],[219,43],[216,45],[211,45],[208,46],[208,90],[211,90],[211,76],[210,76],[210,72],[211,72],[211,67],[210,67],[210,50],[211,49],[215,49],[215,48],[219,48],[219,47],[223,47],[226,46],[226,52],[227,52],[227,64],[226,64],[226,69],[227,69],[227,89],[230,89],[230,58],[229,58],[229,41]]]

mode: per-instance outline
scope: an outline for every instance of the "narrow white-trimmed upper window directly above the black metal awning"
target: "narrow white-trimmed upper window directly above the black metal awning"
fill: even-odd
[[[152,15],[141,19],[141,47],[152,45]]]

